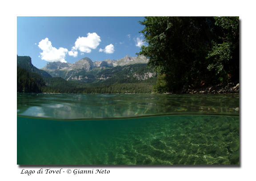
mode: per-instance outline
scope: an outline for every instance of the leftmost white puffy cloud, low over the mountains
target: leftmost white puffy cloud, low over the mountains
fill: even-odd
[[[56,49],[52,46],[52,42],[48,38],[42,39],[38,43],[38,47],[43,50],[40,53],[40,58],[47,62],[66,62],[65,57],[68,53],[68,49],[60,47]]]

